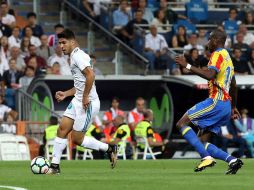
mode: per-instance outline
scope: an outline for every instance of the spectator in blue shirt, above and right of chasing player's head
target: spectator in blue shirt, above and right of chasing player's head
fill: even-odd
[[[230,8],[228,11],[229,18],[225,20],[222,24],[224,26],[227,35],[233,39],[233,36],[237,33],[238,27],[241,24],[240,20],[237,20],[238,10],[237,8]]]

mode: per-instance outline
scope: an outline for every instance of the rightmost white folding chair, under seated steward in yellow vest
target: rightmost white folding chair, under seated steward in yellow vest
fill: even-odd
[[[146,160],[149,157],[152,157],[153,160],[156,160],[155,156],[162,153],[162,152],[153,152],[152,148],[149,146],[147,138],[145,137],[136,136],[136,141],[138,144],[143,144],[145,148],[143,152],[138,147],[136,148],[134,160],[137,160],[139,155],[143,155],[143,160]]]

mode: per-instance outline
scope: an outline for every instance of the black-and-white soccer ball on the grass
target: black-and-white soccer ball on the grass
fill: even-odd
[[[31,170],[34,174],[45,174],[49,170],[49,161],[42,156],[37,156],[31,161]]]

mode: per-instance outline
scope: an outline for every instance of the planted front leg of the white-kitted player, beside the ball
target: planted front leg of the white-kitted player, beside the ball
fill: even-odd
[[[60,174],[60,160],[62,153],[67,146],[67,135],[72,130],[73,120],[68,117],[63,117],[60,126],[57,130],[57,137],[55,138],[53,146],[53,158],[50,164],[50,169],[47,174]]]

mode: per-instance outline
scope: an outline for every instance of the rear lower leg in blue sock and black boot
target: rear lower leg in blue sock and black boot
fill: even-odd
[[[226,174],[236,174],[243,165],[242,160],[231,156],[211,143],[206,143],[205,148],[212,157],[228,163],[228,170],[226,171]]]

